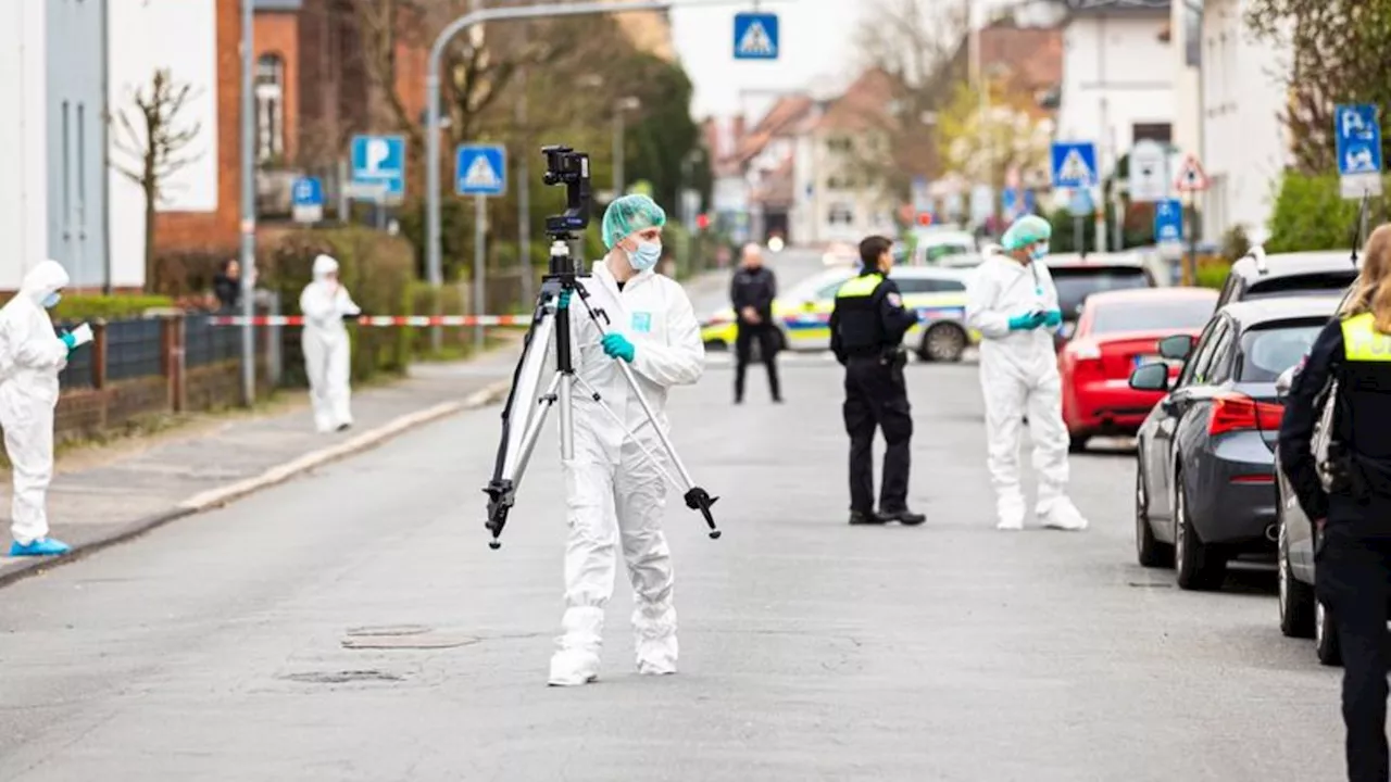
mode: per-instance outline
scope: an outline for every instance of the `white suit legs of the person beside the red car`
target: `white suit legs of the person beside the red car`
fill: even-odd
[[[1063,383],[1057,373],[1028,381],[1008,372],[986,372],[982,366],[981,390],[985,394],[985,431],[996,500],[1022,504],[1020,488],[1020,434],[1024,416],[1029,419],[1034,441],[1034,470],[1039,480],[1036,512],[1046,513],[1067,493],[1067,426],[1063,423]]]

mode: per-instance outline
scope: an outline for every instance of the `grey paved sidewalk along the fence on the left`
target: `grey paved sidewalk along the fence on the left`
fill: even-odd
[[[6,474],[0,488],[0,518],[6,519],[0,586],[274,486],[417,426],[491,404],[506,392],[519,351],[520,344],[490,351],[477,360],[415,365],[405,380],[357,390],[356,423],[344,433],[314,431],[307,392],[289,391],[299,397],[291,409],[195,423],[153,437],[147,447],[114,447],[95,459],[60,458],[49,490],[49,523],[53,537],[74,550],[60,559],[3,555],[10,540]]]

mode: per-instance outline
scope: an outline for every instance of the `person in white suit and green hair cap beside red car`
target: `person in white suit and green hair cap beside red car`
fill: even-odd
[[[1068,434],[1053,346],[1063,313],[1043,263],[1050,237],[1042,217],[1018,218],[1000,241],[1004,252],[989,252],[967,285],[967,323],[983,337],[986,462],[1002,530],[1024,527],[1020,431],[1025,416],[1039,484],[1035,512],[1046,527],[1086,529],[1086,519],[1067,497]]]

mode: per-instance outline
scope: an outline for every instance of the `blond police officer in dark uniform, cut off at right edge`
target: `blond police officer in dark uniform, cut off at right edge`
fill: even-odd
[[[1313,430],[1333,405],[1320,463]],[[1391,225],[1372,232],[1362,276],[1314,340],[1280,426],[1280,461],[1319,529],[1314,591],[1338,632],[1351,782],[1387,782],[1391,601]]]

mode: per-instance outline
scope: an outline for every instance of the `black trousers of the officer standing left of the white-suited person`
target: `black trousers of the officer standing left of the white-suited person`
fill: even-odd
[[[846,433],[850,434],[850,509],[874,511],[874,433],[883,431],[883,484],[879,509],[908,506],[908,445],[912,440],[912,408],[903,380],[903,359],[878,358],[846,362]]]

